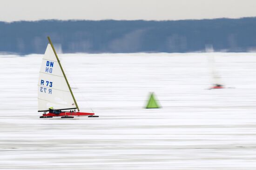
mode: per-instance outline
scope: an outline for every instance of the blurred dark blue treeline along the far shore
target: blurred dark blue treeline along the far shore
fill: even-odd
[[[63,53],[198,52],[256,49],[256,18],[215,20],[41,20],[0,22],[0,52],[44,53],[47,36]]]

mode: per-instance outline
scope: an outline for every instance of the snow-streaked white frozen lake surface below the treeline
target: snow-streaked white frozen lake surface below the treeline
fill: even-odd
[[[232,88],[207,90],[210,55]],[[256,53],[59,57],[100,118],[40,119],[42,55],[0,55],[1,170],[256,170]]]

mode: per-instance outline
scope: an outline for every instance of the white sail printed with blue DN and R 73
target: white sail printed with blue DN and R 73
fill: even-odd
[[[38,80],[39,111],[76,108],[67,82],[61,72],[54,50],[48,44],[44,54]]]

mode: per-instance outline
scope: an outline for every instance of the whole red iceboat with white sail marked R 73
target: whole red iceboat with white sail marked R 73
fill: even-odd
[[[38,112],[44,112],[40,118],[98,117],[94,113],[80,112],[52,41],[47,38],[50,44],[42,60],[38,81]]]

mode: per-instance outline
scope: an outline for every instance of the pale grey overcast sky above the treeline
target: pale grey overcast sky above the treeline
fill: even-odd
[[[184,20],[256,16],[256,0],[0,0],[0,21]]]

